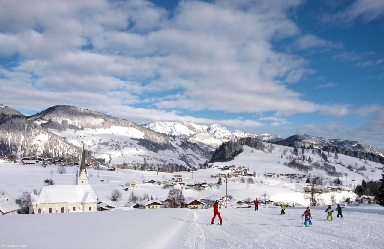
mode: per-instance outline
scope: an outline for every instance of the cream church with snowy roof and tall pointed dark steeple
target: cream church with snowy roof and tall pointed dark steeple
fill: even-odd
[[[85,148],[73,185],[45,185],[40,193],[31,193],[29,213],[73,213],[97,210],[98,198],[89,185]]]

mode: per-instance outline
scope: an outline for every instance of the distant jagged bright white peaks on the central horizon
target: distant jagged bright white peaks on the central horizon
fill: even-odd
[[[240,138],[253,137],[271,143],[280,141],[282,139],[278,135],[251,135],[246,131],[228,131],[227,128],[218,124],[205,126],[197,125],[190,121],[184,123],[152,121],[151,123],[144,124],[143,126],[160,133],[184,138],[190,143],[199,144],[199,146],[205,147],[210,150],[216,149],[223,142],[227,142],[229,140],[237,140]]]

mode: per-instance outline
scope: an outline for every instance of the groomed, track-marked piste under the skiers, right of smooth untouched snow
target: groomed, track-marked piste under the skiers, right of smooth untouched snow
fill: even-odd
[[[313,220],[311,228],[301,227],[301,210],[279,215],[276,209],[261,213],[243,208],[222,210],[223,225],[210,225],[212,210],[189,210],[192,221],[182,246],[190,249],[251,248],[380,248],[383,245],[381,221],[350,217],[326,222]],[[320,217],[318,214],[316,216]],[[367,218],[367,216],[365,216]],[[342,222],[341,222],[342,221]],[[377,225],[377,226],[376,226]],[[378,229],[374,229],[377,227]]]

